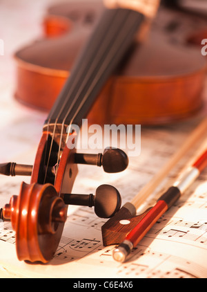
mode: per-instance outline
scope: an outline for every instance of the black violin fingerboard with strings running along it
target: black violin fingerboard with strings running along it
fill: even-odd
[[[143,20],[144,15],[133,10],[104,10],[44,128],[58,124],[81,126],[82,119],[86,118],[102,86],[124,57]]]

